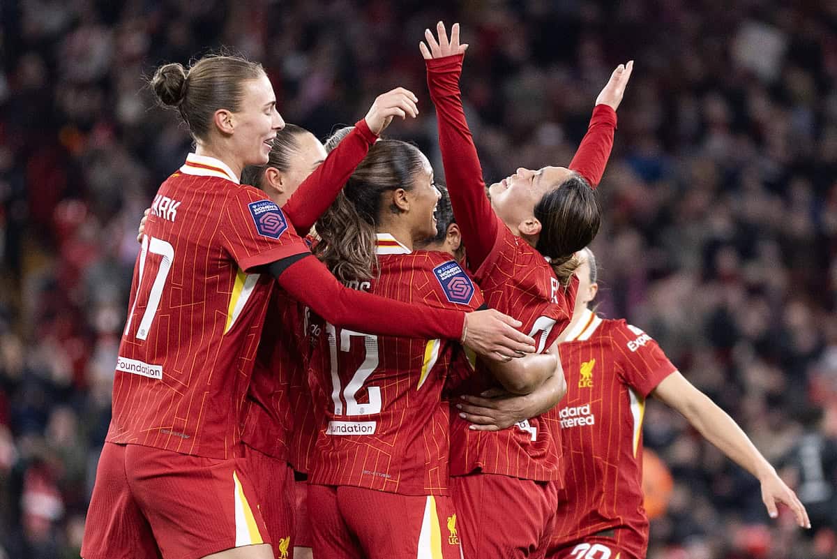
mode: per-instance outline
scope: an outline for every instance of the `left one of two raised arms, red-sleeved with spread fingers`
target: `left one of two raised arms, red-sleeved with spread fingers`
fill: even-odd
[[[424,36],[429,46],[422,43],[420,49],[427,64],[430,98],[436,105],[439,148],[450,205],[462,231],[468,266],[476,270],[494,247],[499,223],[485,195],[480,159],[462,108],[460,74],[468,45],[460,45],[458,23],[451,29],[450,41],[443,23],[439,22],[437,31],[439,42],[428,30]]]

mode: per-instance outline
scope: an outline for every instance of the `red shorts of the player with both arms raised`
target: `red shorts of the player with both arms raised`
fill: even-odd
[[[496,474],[450,478],[465,559],[544,557],[555,529],[557,485]]]

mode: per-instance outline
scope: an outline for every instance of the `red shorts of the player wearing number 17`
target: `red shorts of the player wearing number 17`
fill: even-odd
[[[198,559],[270,543],[239,459],[105,443],[85,522],[85,559]]]

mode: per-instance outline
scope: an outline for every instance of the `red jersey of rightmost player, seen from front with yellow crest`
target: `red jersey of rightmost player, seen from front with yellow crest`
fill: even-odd
[[[559,346],[567,377],[567,396],[557,406],[567,484],[551,547],[613,530],[619,546],[644,557],[645,397],[676,368],[644,331],[585,312]]]

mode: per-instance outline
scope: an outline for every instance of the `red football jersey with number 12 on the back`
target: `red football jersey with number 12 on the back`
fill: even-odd
[[[438,308],[483,304],[448,254],[410,252],[379,234],[377,255],[379,275],[357,289]],[[445,495],[449,407],[442,389],[451,368],[470,367],[465,351],[451,341],[370,336],[327,324],[318,334],[310,380],[323,423],[311,483]]]

